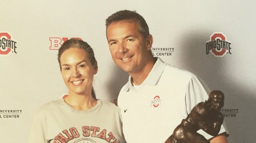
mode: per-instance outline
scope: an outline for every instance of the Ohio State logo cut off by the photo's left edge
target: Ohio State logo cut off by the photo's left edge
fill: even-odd
[[[17,54],[16,44],[17,42],[12,40],[12,36],[9,33],[0,33],[0,55],[8,55],[9,53]]]

